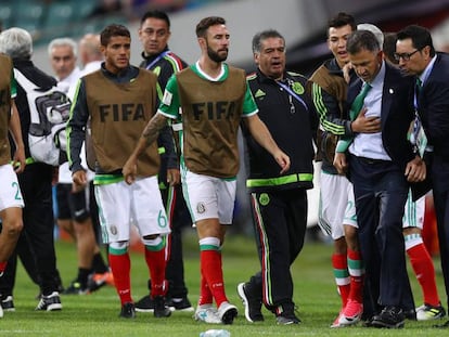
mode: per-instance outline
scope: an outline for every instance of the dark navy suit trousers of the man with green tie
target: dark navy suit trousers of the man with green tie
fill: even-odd
[[[413,309],[402,235],[409,184],[389,160],[349,156],[360,251],[365,265],[364,303],[372,314],[382,307]]]

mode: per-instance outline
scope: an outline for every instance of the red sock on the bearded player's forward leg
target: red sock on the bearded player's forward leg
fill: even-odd
[[[221,252],[218,250],[202,250],[200,254],[201,265],[207,281],[217,308],[228,298],[224,294],[223,271],[221,267]]]

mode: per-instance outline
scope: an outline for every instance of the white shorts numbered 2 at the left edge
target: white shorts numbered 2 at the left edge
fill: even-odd
[[[17,174],[15,174],[12,165],[0,166],[0,210],[11,207],[24,208],[25,204]]]

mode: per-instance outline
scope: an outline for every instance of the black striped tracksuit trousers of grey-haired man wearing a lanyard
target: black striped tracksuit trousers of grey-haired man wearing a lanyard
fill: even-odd
[[[253,224],[261,271],[251,277],[252,294],[260,294],[275,312],[294,309],[292,263],[303,249],[307,228],[307,192],[304,189],[257,192],[251,195]]]

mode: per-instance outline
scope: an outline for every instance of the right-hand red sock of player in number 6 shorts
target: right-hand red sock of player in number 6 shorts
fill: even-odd
[[[164,296],[167,291],[165,283],[165,249],[157,251],[145,249],[145,261],[150,270],[152,297]]]

